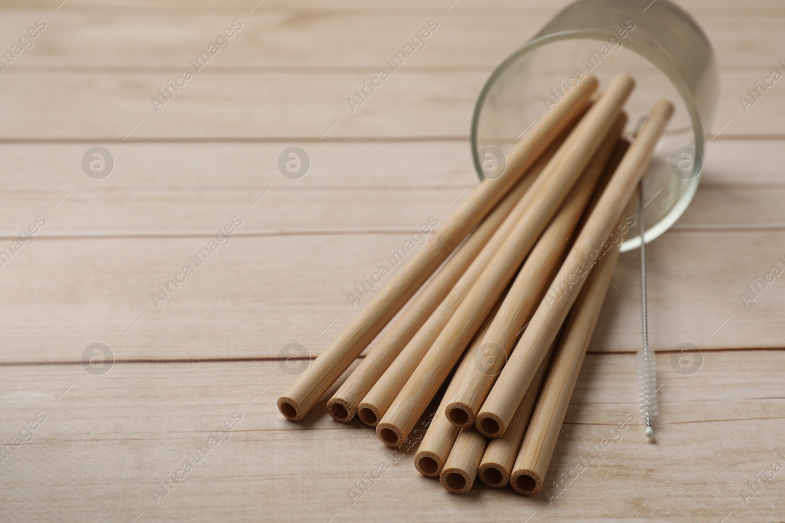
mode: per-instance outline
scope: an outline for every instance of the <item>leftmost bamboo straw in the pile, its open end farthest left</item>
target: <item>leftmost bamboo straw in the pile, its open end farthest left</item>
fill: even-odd
[[[483,183],[469,195],[455,214],[434,232],[429,242],[422,245],[392,281],[360,314],[312,361],[287,391],[278,398],[278,409],[287,419],[299,421],[312,409],[335,380],[352,365],[368,343],[397,314],[433,271],[462,241],[466,234],[482,220],[502,199],[520,176],[545,151],[572,117],[579,114],[597,89],[597,80],[586,78],[552,110],[539,119],[517,143],[507,161],[507,172]]]

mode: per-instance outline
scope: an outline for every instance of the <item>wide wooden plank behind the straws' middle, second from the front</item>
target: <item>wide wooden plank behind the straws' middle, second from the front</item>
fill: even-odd
[[[773,265],[785,267],[777,257],[785,256],[785,232],[761,234],[765,240],[754,231],[670,231],[652,243],[655,350],[785,346],[782,330],[771,328],[785,307],[780,278],[747,308],[739,298]],[[207,237],[40,238],[2,267],[0,361],[78,361],[98,341],[123,360],[271,357],[292,342],[319,354],[359,311],[349,292],[380,264],[391,267],[385,256],[409,238],[369,236],[234,237],[199,267],[188,256]],[[184,264],[195,274],[154,301]],[[640,344],[637,252],[622,256],[613,283],[590,350]]]

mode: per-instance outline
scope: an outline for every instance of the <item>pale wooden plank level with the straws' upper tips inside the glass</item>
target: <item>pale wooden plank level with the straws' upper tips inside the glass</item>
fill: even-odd
[[[781,136],[776,115],[785,111],[785,89],[770,90],[746,113],[739,104],[739,96],[769,69],[722,71],[710,136],[721,130],[725,136]],[[596,72],[603,82],[613,73],[610,67]],[[558,74],[551,75],[558,83]],[[368,73],[199,74],[156,113],[150,100],[170,76],[165,72],[9,74],[0,85],[0,110],[5,114],[0,140],[468,140],[476,97],[488,73],[396,71],[366,102],[353,107],[354,112],[346,99],[363,85]],[[655,82],[648,73],[636,76],[640,85]],[[660,96],[676,100],[677,95],[637,89],[630,104],[633,111],[643,113]],[[545,111],[544,105],[537,111]],[[293,114],[301,116],[292,118]],[[721,129],[728,120],[732,122]],[[522,122],[520,130],[527,125]],[[685,125],[686,113],[677,107],[673,128]]]

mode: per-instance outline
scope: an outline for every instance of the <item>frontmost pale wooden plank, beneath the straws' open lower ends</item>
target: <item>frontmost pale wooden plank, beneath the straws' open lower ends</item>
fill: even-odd
[[[545,492],[525,499],[479,481],[466,496],[451,496],[416,473],[416,445],[399,458],[371,431],[332,421],[323,405],[303,423],[287,422],[275,399],[294,376],[276,361],[118,364],[104,376],[90,376],[81,365],[3,367],[4,438],[10,441],[38,412],[46,421],[2,463],[0,517],[329,521],[340,514],[341,521],[368,521],[369,514],[385,514],[523,521],[536,512],[542,521],[720,521],[732,512],[734,521],[778,521],[782,482],[770,481],[747,505],[739,493],[772,461],[783,463],[771,446],[785,430],[783,358],[781,350],[718,352],[695,375],[682,376],[671,369],[670,354],[659,355],[663,387],[652,445],[640,419],[609,432],[628,413],[636,415],[634,356],[590,354],[547,484],[562,473],[575,478],[569,471],[577,463],[585,470],[564,481],[553,504]],[[225,441],[196,463],[190,453],[235,412],[242,421],[218,433]],[[619,441],[593,459],[589,452],[602,449],[603,438]],[[184,460],[193,470],[172,481],[156,505],[153,489],[163,492],[160,481]],[[382,477],[352,504],[356,481],[372,477],[380,463]]]

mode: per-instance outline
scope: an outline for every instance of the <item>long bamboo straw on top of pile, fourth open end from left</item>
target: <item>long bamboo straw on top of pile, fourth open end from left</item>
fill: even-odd
[[[447,373],[479,329],[480,323],[487,317],[487,311],[498,300],[502,289],[513,278],[529,249],[545,229],[547,221],[553,218],[580,173],[600,147],[632,89],[633,79],[629,74],[620,74],[615,78],[529,187],[524,196],[530,205],[528,211],[480,275],[451,321],[444,326],[433,347],[425,354],[385,413],[382,423],[376,426],[376,434],[386,445],[400,446],[411,432]]]

